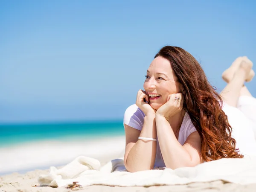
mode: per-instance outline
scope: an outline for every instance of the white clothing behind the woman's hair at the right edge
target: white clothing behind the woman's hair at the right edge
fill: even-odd
[[[256,98],[241,96],[237,108],[225,104],[223,111],[232,127],[232,137],[241,154],[256,155]]]

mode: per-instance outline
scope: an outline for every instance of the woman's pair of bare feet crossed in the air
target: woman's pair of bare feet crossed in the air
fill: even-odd
[[[251,65],[250,71],[246,75],[246,79],[245,79],[245,81],[247,81],[247,82],[251,81],[253,79],[255,73],[252,70],[252,66],[253,66],[252,61],[250,61],[250,59],[248,59],[246,56],[236,58],[236,60],[231,64],[231,66],[222,73],[222,79],[224,81],[226,81],[227,83],[230,82],[233,79],[234,74],[239,69],[239,67],[242,67],[242,68],[245,67],[246,64],[242,64],[242,66],[240,66],[243,61],[245,63],[249,63],[249,66]]]

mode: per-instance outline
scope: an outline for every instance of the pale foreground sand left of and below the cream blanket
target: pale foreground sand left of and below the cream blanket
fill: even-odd
[[[12,173],[0,177],[0,192],[70,192],[65,187],[52,188],[38,185],[37,178],[41,174],[48,173],[48,170],[35,170],[26,174]],[[206,183],[190,183],[174,186],[151,186],[151,187],[119,187],[119,186],[86,186],[75,188],[81,192],[255,192],[256,183],[250,185],[239,185],[225,183],[221,180]]]

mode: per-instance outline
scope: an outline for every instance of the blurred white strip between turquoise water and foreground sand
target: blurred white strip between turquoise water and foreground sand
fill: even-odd
[[[79,155],[92,158],[118,156],[125,150],[125,137],[95,140],[47,140],[0,148],[0,175],[38,167],[64,165]],[[116,158],[118,158],[116,157]]]

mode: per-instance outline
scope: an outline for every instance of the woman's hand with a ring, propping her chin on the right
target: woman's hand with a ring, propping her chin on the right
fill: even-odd
[[[166,104],[157,109],[156,115],[164,116],[166,120],[174,116],[183,109],[183,95],[182,93],[171,94],[167,98]]]

